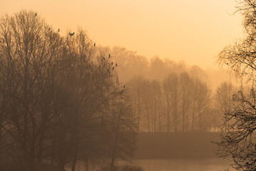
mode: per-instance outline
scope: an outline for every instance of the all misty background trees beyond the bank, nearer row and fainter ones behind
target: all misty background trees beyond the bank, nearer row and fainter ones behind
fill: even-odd
[[[216,132],[223,130],[222,112],[237,88],[223,81],[211,88],[208,74],[158,56],[145,58],[126,48],[104,48],[120,66],[118,78],[126,84],[133,119],[139,131]],[[221,76],[219,76],[221,77]]]

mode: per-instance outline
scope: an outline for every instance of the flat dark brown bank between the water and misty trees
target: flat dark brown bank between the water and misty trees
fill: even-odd
[[[134,159],[216,157],[220,133],[139,133]]]

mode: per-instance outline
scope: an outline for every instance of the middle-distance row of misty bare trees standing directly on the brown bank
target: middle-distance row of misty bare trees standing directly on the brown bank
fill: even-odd
[[[138,129],[148,133],[220,130],[221,112],[234,90],[223,82],[213,94],[205,81],[186,72],[170,73],[163,81],[135,76],[128,83]]]

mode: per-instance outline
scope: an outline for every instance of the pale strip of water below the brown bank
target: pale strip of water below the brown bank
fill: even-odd
[[[230,161],[221,158],[211,159],[152,159],[133,160],[132,165],[143,167],[145,171],[232,171]]]

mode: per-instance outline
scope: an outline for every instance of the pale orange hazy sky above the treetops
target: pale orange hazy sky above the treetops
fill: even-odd
[[[215,66],[217,53],[242,35],[235,0],[0,0],[0,14],[38,11],[61,33],[78,26],[102,46]]]

